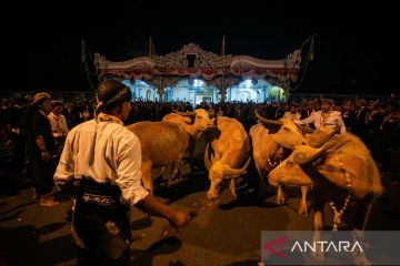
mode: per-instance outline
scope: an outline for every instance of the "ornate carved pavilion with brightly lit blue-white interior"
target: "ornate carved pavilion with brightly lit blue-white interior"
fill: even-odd
[[[300,70],[301,50],[281,60],[226,55],[189,43],[166,55],[111,62],[94,54],[100,80],[113,78],[130,86],[136,99],[200,102],[282,101]]]

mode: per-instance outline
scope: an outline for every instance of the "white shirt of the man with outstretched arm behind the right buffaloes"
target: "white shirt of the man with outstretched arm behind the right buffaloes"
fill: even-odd
[[[317,111],[311,113],[310,116],[308,116],[307,119],[300,120],[300,121],[294,121],[294,123],[303,125],[303,124],[309,124],[309,123],[313,123],[316,129],[319,129],[321,126],[330,126],[330,127],[334,127],[337,125],[340,126],[340,134],[346,133],[346,125],[343,123],[343,119],[340,114],[340,112],[338,111],[331,111],[324,114],[326,117],[322,116],[322,111]]]

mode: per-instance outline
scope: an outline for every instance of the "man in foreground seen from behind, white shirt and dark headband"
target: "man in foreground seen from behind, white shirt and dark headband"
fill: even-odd
[[[68,134],[57,172],[60,187],[78,180],[72,221],[83,264],[128,264],[131,242],[129,205],[167,218],[176,228],[190,214],[176,211],[150,195],[141,184],[141,147],[123,126],[131,105],[128,86],[114,80],[97,90],[94,120],[77,125]]]

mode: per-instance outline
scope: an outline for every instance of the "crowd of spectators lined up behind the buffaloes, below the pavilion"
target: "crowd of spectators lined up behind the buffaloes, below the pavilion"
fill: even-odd
[[[34,99],[22,96],[18,99],[3,99],[0,101],[0,166],[6,171],[10,167],[26,170],[27,155],[29,154],[29,126],[30,115]],[[133,100],[127,124],[139,121],[161,121],[162,117],[172,112],[172,109],[181,112],[192,111],[189,102],[151,102]],[[270,120],[281,117],[293,121],[303,121],[313,127],[322,121],[319,115],[322,99],[304,99],[298,102],[202,102],[194,109],[209,110],[214,115],[234,117],[241,122],[247,131],[257,123],[253,110]],[[387,101],[367,101],[364,99],[344,99],[332,102],[328,106],[331,115],[340,116],[343,121],[341,131],[358,135],[368,146],[373,158],[387,176],[399,176],[399,100],[391,95]],[[96,100],[77,99],[71,102],[60,100],[52,101],[48,111],[48,119],[51,122],[51,132],[57,143],[58,153],[62,149],[67,133],[76,125],[94,117]],[[44,111],[47,112],[47,111]],[[306,120],[308,119],[308,120]],[[12,163],[11,163],[12,162]],[[26,170],[27,171],[27,170]]]

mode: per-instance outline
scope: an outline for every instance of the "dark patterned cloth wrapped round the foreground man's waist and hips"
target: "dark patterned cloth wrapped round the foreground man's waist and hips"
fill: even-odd
[[[87,248],[111,259],[120,258],[131,242],[128,211],[118,186],[82,178],[72,219],[74,232]]]

